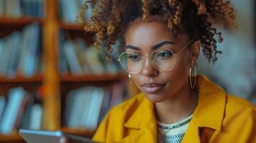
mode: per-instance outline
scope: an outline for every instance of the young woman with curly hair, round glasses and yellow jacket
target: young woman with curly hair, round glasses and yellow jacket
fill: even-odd
[[[256,142],[256,109],[204,75],[196,75],[199,51],[217,61],[221,33],[213,22],[234,26],[222,0],[102,0],[93,24],[96,45],[112,51],[123,41],[119,61],[141,94],[108,112],[97,142]],[[234,69],[230,69],[232,71]]]

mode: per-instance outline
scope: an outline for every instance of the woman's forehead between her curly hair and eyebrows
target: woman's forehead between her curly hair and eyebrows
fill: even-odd
[[[136,46],[143,52],[153,51],[152,47],[163,41],[171,41],[173,49],[179,49],[189,40],[189,36],[178,32],[177,41],[166,24],[158,21],[136,21],[132,23],[125,34],[126,46]]]

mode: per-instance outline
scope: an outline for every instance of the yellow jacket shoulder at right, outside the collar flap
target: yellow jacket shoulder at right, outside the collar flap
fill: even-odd
[[[256,109],[246,99],[227,94],[222,129],[212,142],[256,142]]]

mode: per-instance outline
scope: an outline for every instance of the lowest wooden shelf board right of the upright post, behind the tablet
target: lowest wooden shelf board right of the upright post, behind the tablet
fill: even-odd
[[[70,134],[76,134],[84,137],[93,137],[95,131],[87,130],[87,129],[70,129],[67,127],[62,127],[60,129],[62,132],[67,132]]]

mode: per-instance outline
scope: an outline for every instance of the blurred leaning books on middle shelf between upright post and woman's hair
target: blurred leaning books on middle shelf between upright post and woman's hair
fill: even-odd
[[[105,49],[88,46],[82,39],[67,39],[60,36],[60,73],[72,74],[116,74],[121,68],[114,57],[107,60]],[[118,45],[117,45],[118,46]],[[116,50],[115,50],[116,51]]]

